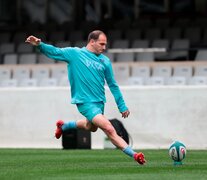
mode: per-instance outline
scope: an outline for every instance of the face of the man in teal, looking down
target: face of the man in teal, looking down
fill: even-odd
[[[91,46],[94,49],[94,53],[101,54],[106,50],[107,38],[104,34],[100,34],[99,38],[95,41],[91,41]]]

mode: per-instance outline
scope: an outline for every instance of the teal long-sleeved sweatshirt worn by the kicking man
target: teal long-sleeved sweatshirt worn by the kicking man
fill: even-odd
[[[106,102],[105,80],[113,94],[120,112],[126,111],[123,96],[117,85],[108,57],[94,54],[86,47],[58,48],[41,42],[41,53],[57,61],[65,61],[71,86],[71,103]]]

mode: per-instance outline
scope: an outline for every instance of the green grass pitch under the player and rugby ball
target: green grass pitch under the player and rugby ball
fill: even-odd
[[[174,166],[168,150],[143,150],[147,164],[138,165],[117,149],[0,149],[0,179],[207,179],[207,151],[189,150]]]

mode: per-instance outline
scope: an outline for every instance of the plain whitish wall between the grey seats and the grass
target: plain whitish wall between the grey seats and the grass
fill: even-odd
[[[180,140],[207,149],[207,87],[121,87],[131,111],[122,119],[106,89],[105,115],[122,120],[133,148],[168,148]],[[0,89],[0,147],[62,148],[54,138],[57,119],[82,118],[70,104],[69,88]],[[104,148],[105,135],[92,133],[92,148]]]

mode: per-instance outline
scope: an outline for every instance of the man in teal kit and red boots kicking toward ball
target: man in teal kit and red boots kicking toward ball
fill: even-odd
[[[85,119],[68,123],[64,123],[62,120],[57,121],[56,138],[59,139],[63,131],[68,129],[82,128],[95,132],[97,128],[100,128],[116,147],[133,157],[139,164],[144,164],[144,154],[134,152],[117,135],[110,121],[104,116],[105,80],[122,117],[127,118],[130,114],[119,86],[114,79],[111,62],[109,58],[102,54],[107,45],[105,33],[100,30],[91,32],[88,35],[88,43],[83,48],[58,48],[45,44],[34,36],[29,36],[26,42],[37,46],[40,52],[47,57],[67,63],[68,78],[71,85],[71,103],[76,104],[79,112],[85,117]]]

